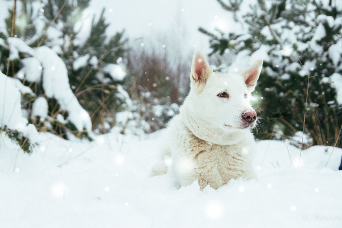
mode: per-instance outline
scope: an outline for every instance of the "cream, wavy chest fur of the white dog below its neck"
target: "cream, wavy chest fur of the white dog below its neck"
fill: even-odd
[[[198,180],[201,189],[207,185],[217,189],[232,178],[255,177],[251,169],[251,153],[254,146],[251,134],[247,134],[237,144],[218,145],[199,139],[185,125],[175,126],[177,129],[172,131],[173,145],[170,146],[174,148],[171,152],[174,160],[173,169],[181,186]]]

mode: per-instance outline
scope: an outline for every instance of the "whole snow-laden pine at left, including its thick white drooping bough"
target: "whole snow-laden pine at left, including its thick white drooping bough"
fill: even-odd
[[[125,77],[117,63],[126,51],[123,32],[108,39],[103,13],[95,21],[86,10],[89,0],[16,3],[0,32],[0,70],[33,91],[21,102],[28,122],[64,138],[109,130],[114,121],[104,123],[123,102],[116,89]],[[118,75],[103,70],[113,65]]]

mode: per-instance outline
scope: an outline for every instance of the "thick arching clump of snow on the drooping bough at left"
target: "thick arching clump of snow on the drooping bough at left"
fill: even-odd
[[[61,108],[68,111],[67,120],[73,123],[77,130],[86,129],[88,133],[92,131],[92,123],[89,114],[78,103],[76,96],[70,89],[68,71],[63,60],[47,46],[40,46],[36,49],[29,47],[19,38],[9,38],[11,50],[24,52],[33,56],[33,58],[24,59],[24,69],[19,74],[20,77],[27,76],[30,80],[38,80],[40,70],[43,68],[42,81],[45,95],[48,98],[58,100]],[[33,63],[32,65],[30,65]],[[40,63],[40,64],[39,64]],[[28,66],[29,65],[29,66]]]

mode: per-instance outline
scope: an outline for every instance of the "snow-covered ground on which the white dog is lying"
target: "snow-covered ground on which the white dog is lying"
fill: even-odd
[[[163,131],[117,133],[93,142],[40,133],[31,155],[2,135],[0,227],[342,227],[342,149],[314,146],[301,155],[286,142],[258,142],[258,180],[214,190],[176,189],[149,177]]]

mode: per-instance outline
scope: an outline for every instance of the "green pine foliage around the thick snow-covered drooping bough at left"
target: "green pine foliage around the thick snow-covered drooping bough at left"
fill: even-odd
[[[108,24],[105,23],[104,11],[97,21],[94,16],[89,30],[85,30],[89,32],[87,40],[80,39],[85,35],[80,32],[82,29],[84,32],[84,27],[87,26],[83,23],[84,20],[82,21],[82,12],[89,6],[89,1],[15,1],[16,8],[9,11],[10,16],[6,19],[7,33],[0,33],[0,39],[3,41],[0,44],[0,70],[9,77],[16,78],[18,71],[24,66],[24,59],[30,57],[26,53],[11,57],[10,37],[22,39],[31,48],[48,46],[65,63],[70,88],[79,103],[91,115],[93,129],[101,128],[102,131],[106,131],[103,127],[105,119],[110,117],[109,113],[113,109],[119,108],[124,102],[118,98],[116,88],[122,83],[125,75],[120,61],[126,52],[123,47],[126,40],[123,40],[122,31],[107,41]],[[67,133],[73,133],[77,137],[88,137],[86,131],[79,131],[73,123],[65,121],[68,112],[61,111],[58,101],[45,95],[42,80],[29,82],[26,76],[21,80],[36,94],[23,95],[22,107],[27,110],[30,123],[34,123],[38,129],[65,138],[68,137]],[[31,116],[32,104],[37,97],[47,99],[48,119]],[[113,125],[114,121],[109,124]]]

